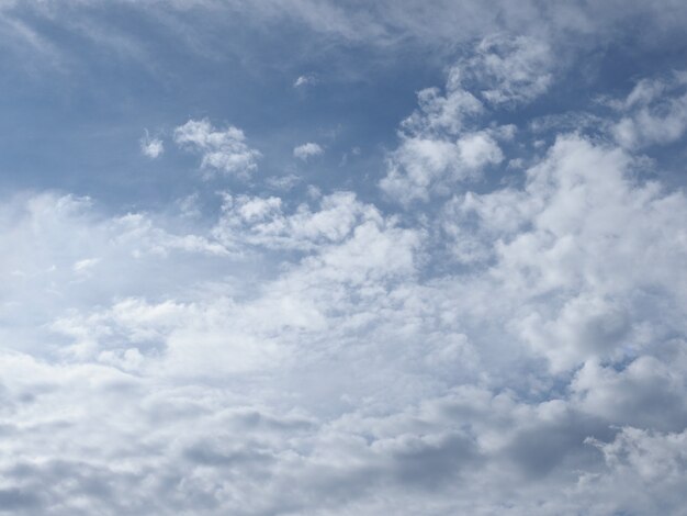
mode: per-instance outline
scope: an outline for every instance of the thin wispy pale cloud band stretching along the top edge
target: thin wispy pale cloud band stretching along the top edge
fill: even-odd
[[[91,3],[108,4],[102,0]],[[115,4],[129,3],[125,0],[115,1]],[[104,11],[92,15],[83,9],[81,0],[67,0],[69,15],[41,0],[21,2],[22,9],[18,9],[16,4],[14,1],[4,1],[0,5],[0,14],[7,25],[4,32],[10,35],[5,42],[11,43],[13,51],[20,55],[26,55],[26,45],[18,45],[14,40],[23,38],[38,51],[40,57],[43,57],[40,53],[44,53],[45,48],[54,48],[59,51],[58,54],[66,55],[63,61],[74,66],[72,58],[79,53],[66,48],[58,37],[36,21],[48,19],[65,32],[85,37],[90,45],[109,55],[124,55],[145,64],[155,59],[140,35],[112,26]],[[212,30],[200,30],[188,20],[190,5]],[[620,5],[623,9],[619,9]],[[457,47],[485,36],[493,37],[493,34],[513,35],[506,37],[510,40],[517,40],[520,35],[545,36],[554,46],[559,64],[567,66],[574,65],[571,53],[559,49],[604,45],[608,34],[627,30],[626,23],[630,19],[641,19],[646,25],[647,36],[638,40],[644,48],[655,47],[657,42],[679,36],[687,19],[687,10],[672,0],[651,4],[617,0],[599,4],[555,1],[545,9],[534,8],[531,0],[496,0],[489,5],[475,0],[460,4],[448,0],[383,0],[369,9],[360,9],[356,4],[341,5],[331,0],[259,0],[250,4],[237,0],[193,0],[191,3],[187,0],[168,0],[145,8],[136,7],[132,12],[164,23],[167,41],[177,42],[201,59],[237,57],[245,53],[243,45],[237,48],[234,40],[222,36],[227,31],[246,27],[247,32],[255,34],[262,27],[270,27],[273,33],[279,33],[278,30],[294,26],[299,34],[305,34],[315,42],[312,45],[315,54],[323,47],[346,42],[373,48],[429,49],[440,53],[441,58],[449,58]],[[49,59],[43,57],[44,63],[55,61],[54,54],[46,56]]]

